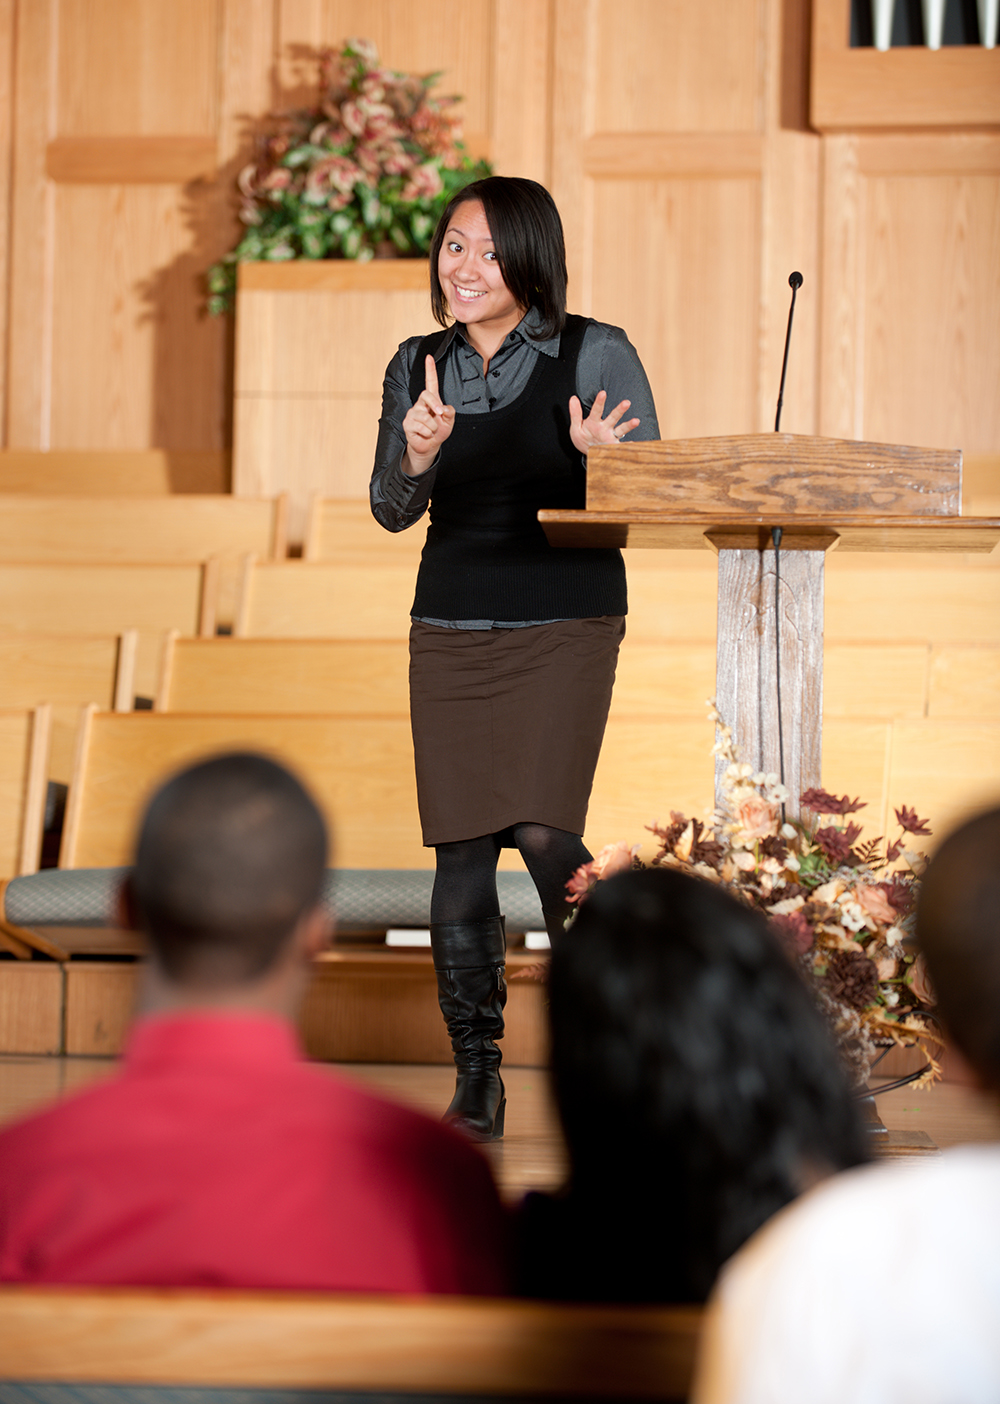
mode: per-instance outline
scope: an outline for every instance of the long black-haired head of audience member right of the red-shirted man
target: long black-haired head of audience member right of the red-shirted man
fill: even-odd
[[[650,1250],[666,1224],[695,1293],[812,1179],[867,1158],[810,991],[765,921],[711,883],[598,883],[549,988],[572,1189],[619,1196],[618,1231],[624,1216]]]

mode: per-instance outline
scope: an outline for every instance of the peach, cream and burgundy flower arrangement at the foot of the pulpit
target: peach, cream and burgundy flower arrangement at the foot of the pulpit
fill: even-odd
[[[924,858],[906,848],[907,835],[926,837],[930,828],[903,806],[895,812],[895,838],[860,842],[851,814],[864,802],[823,789],[805,790],[802,819],[785,820],[788,792],[778,776],[754,774],[713,706],[712,719],[715,753],[725,762],[719,810],[705,821],[671,813],[669,824],[650,826],[659,842],[652,866],[719,883],[767,917],[810,980],[860,1085],[876,1047],[889,1043],[920,1046],[921,1081],[935,1081],[934,991],[912,942]],[[643,866],[638,847],[608,845],[573,875],[570,901],[632,866]]]

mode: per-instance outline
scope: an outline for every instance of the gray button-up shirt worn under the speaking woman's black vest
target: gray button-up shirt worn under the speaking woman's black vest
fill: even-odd
[[[538,312],[529,307],[521,322],[508,331],[483,375],[483,358],[465,337],[461,323],[449,327],[442,338],[434,361],[438,371],[440,395],[445,404],[452,404],[458,414],[489,414],[493,409],[511,404],[525,389],[539,355],[559,355],[559,336],[545,341],[531,338],[531,331],[539,324]],[[419,521],[427,510],[434,493],[434,479],[441,455],[417,477],[403,472],[406,435],[403,417],[413,404],[410,396],[410,373],[423,337],[403,341],[389,362],[382,385],[382,417],[378,425],[378,446],[375,469],[371,480],[371,505],[375,518],[388,531],[404,531]],[[576,364],[576,393],[583,404],[593,404],[598,390],[607,392],[607,410],[619,400],[631,400],[632,406],[624,418],[639,418],[639,425],[626,435],[629,439],[656,439],[660,430],[656,423],[653,392],[646,372],[621,327],[604,322],[590,322],[580,347]],[[426,621],[444,623],[445,621]],[[551,623],[552,621],[525,621],[528,623]],[[489,629],[489,619],[468,619],[461,625],[448,622],[451,628]],[[511,628],[506,623],[504,628]]]

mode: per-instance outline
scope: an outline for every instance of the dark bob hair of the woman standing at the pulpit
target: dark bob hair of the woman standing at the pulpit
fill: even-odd
[[[438,220],[431,244],[431,310],[435,322],[449,324],[448,302],[438,281],[438,254],[455,211],[466,201],[479,202],[493,234],[500,272],[514,300],[542,317],[537,338],[562,331],[566,322],[566,243],[555,201],[538,181],[521,176],[489,176],[452,195]]]

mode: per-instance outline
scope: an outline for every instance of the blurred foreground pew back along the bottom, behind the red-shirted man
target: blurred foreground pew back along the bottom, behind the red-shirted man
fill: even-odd
[[[4,1286],[0,1380],[684,1400],[701,1320],[698,1307]]]

